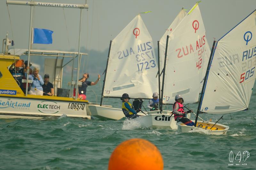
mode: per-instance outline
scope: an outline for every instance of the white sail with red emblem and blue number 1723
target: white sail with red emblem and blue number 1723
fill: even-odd
[[[104,97],[152,98],[158,92],[153,41],[137,15],[112,41]]]

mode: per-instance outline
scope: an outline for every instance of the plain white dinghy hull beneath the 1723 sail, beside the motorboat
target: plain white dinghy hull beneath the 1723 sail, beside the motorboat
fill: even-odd
[[[92,116],[100,120],[119,120],[125,117],[122,109],[119,108],[89,105],[89,109]],[[145,114],[139,112],[138,115]]]

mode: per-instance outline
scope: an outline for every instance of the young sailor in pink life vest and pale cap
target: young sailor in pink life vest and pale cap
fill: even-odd
[[[177,94],[175,96],[175,102],[173,103],[173,115],[174,115],[174,120],[177,122],[182,122],[187,126],[194,126],[195,123],[186,118],[186,114],[193,112],[193,110],[188,110],[187,112],[184,112],[183,108],[183,98],[181,97],[180,94]]]

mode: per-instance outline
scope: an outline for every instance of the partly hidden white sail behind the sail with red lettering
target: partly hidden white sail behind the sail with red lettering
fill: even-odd
[[[172,24],[168,27],[168,30],[165,31],[164,35],[159,41],[159,62],[160,62],[160,71],[164,68],[164,55],[165,55],[165,47],[166,47],[166,37],[167,35],[171,35],[171,32],[174,31],[176,26],[180,23],[180,21],[186,16],[187,12],[182,8],[176,18],[173,20]]]

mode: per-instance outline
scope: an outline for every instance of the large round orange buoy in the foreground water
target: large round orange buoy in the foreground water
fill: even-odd
[[[162,170],[164,161],[157,147],[145,139],[129,139],[112,152],[108,170]]]

